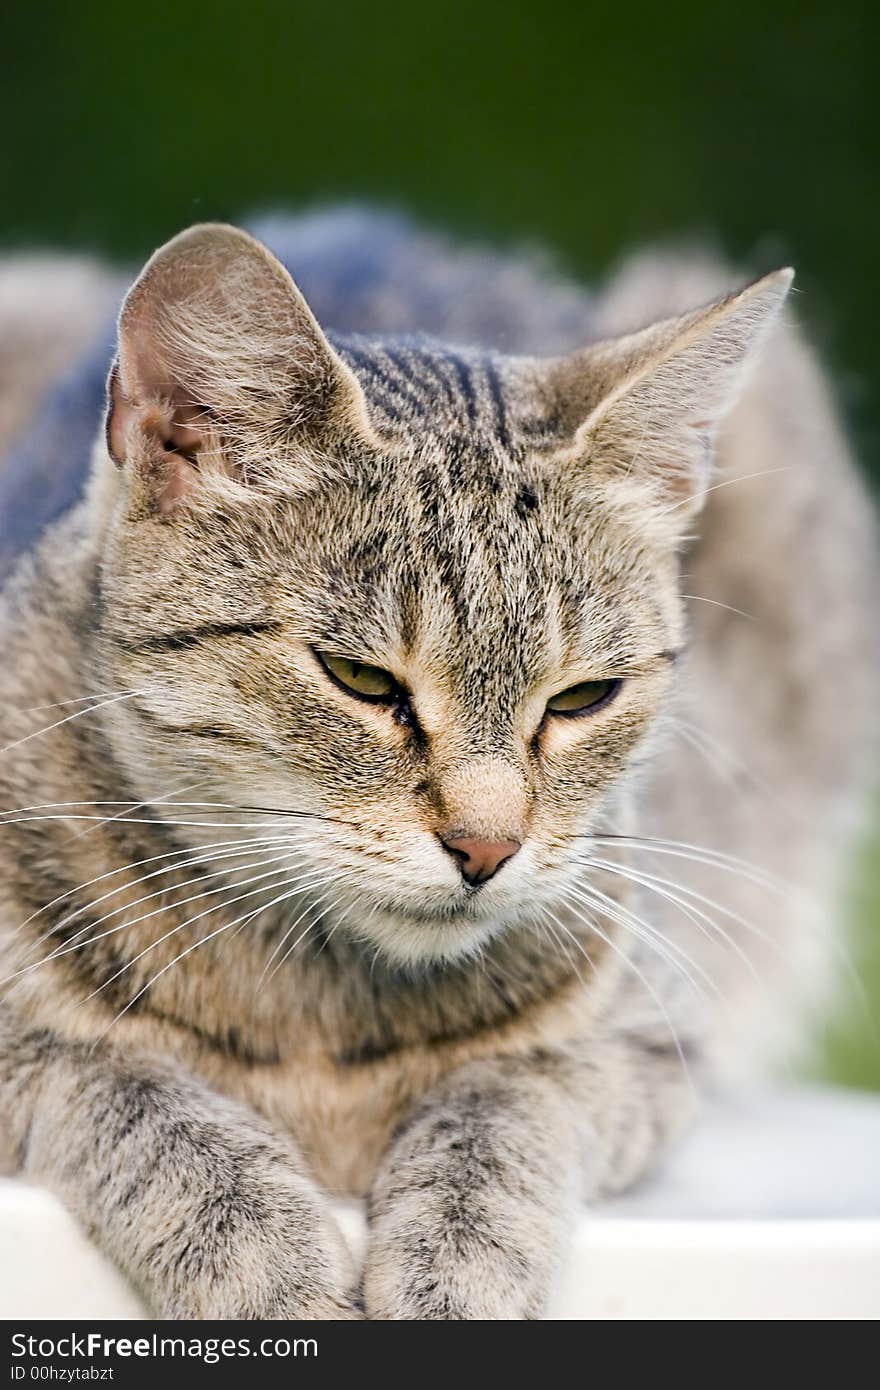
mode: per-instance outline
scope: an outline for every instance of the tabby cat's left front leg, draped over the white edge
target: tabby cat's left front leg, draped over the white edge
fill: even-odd
[[[355,1269],[295,1145],[161,1063],[3,1038],[0,1127],[165,1318],[350,1319]]]

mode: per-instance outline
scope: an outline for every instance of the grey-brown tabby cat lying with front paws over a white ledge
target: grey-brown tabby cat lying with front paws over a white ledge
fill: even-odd
[[[872,507],[790,271],[256,232],[6,271],[0,1166],[158,1316],[538,1318],[834,981]]]

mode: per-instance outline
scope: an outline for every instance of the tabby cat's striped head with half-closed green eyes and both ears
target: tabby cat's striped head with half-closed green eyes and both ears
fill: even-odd
[[[113,726],[132,784],[309,813],[220,819],[272,867],[256,840],[291,835],[268,880],[291,916],[307,892],[392,960],[563,901],[669,699],[681,541],[790,279],[527,360],[331,346],[246,234],[172,240],[110,382],[101,630],[139,692]]]

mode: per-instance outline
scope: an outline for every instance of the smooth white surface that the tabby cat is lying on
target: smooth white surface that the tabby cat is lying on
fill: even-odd
[[[360,1250],[360,1212],[339,1218]],[[145,1316],[56,1198],[0,1182],[0,1318]],[[880,1098],[706,1113],[653,1182],[584,1213],[549,1316],[880,1316]]]

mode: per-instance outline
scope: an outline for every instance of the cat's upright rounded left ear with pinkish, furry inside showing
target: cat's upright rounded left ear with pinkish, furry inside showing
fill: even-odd
[[[122,304],[106,430],[150,509],[211,474],[309,481],[309,459],[352,432],[371,438],[357,378],[271,252],[221,224],[156,252]]]

